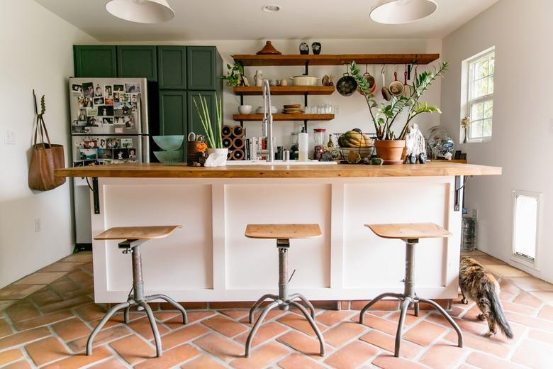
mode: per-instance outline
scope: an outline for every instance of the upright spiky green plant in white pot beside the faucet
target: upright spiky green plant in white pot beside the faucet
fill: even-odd
[[[194,101],[194,107],[196,108],[196,114],[198,114],[203,131],[206,133],[206,144],[208,158],[204,164],[206,167],[218,167],[226,165],[228,148],[223,148],[223,138],[221,136],[221,127],[223,126],[223,104],[219,94],[215,95],[215,122],[211,122],[211,116],[209,115],[209,106],[206,98],[198,97],[199,104],[196,101],[196,97],[192,98]]]

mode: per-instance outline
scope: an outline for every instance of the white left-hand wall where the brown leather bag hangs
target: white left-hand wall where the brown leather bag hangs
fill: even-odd
[[[0,287],[69,255],[73,247],[69,184],[49,192],[28,188],[33,133],[33,89],[46,96],[50,138],[67,149],[67,77],[73,74],[73,43],[86,33],[32,0],[4,0],[0,15]],[[6,130],[16,144],[6,145]],[[66,153],[67,158],[67,153]],[[40,218],[41,230],[34,231]]]

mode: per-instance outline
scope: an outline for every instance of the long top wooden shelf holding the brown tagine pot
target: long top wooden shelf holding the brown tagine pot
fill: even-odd
[[[440,54],[233,55],[244,67],[269,65],[428,64]]]

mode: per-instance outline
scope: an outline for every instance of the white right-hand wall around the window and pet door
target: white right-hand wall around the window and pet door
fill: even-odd
[[[467,207],[478,209],[479,248],[501,260],[510,260],[512,191],[542,192],[543,217],[540,270],[523,268],[553,282],[553,174],[550,158],[553,138],[549,35],[553,23],[550,0],[501,0],[443,40],[449,75],[442,82],[441,123],[459,142],[462,116],[461,63],[476,53],[496,47],[493,96],[493,138],[488,143],[461,145],[471,163],[503,167],[501,177],[474,177],[467,184]]]

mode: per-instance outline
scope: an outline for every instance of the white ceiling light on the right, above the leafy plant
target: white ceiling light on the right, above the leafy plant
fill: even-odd
[[[380,0],[371,9],[371,19],[378,23],[403,24],[420,21],[437,10],[433,0]]]

